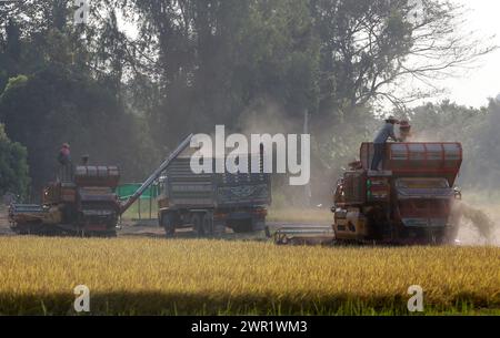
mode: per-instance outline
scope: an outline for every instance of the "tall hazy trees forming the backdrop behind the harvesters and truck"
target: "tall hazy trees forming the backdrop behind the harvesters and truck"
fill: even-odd
[[[62,142],[140,181],[188,133],[301,132],[307,115],[321,199],[381,106],[413,119],[407,104],[434,94],[397,89],[493,49],[460,34],[466,13],[452,1],[90,4],[77,24],[73,1],[0,3],[0,122],[28,151],[33,192],[53,178]]]

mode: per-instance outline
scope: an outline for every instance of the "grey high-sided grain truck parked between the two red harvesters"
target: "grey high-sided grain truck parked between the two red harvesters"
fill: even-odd
[[[258,155],[249,156],[261,161]],[[259,157],[257,157],[259,156]],[[214,164],[216,161],[212,161]],[[266,227],[271,203],[270,175],[262,173],[193,173],[189,156],[179,156],[160,180],[158,219],[168,236],[192,227],[199,236],[258,232]]]

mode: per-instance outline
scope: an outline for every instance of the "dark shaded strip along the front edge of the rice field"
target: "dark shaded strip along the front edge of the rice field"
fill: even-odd
[[[73,295],[0,295],[0,315],[78,315]],[[89,315],[410,315],[408,298],[394,295],[239,295],[186,293],[90,293]],[[490,301],[490,303],[489,303]],[[473,294],[424,304],[423,315],[500,314]]]

